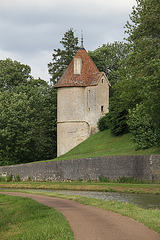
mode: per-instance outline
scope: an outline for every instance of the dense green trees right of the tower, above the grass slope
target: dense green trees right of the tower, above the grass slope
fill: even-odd
[[[116,71],[110,112],[99,128],[130,131],[137,148],[160,145],[160,3],[137,0],[126,24],[129,52]]]

